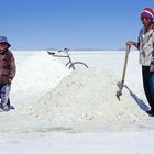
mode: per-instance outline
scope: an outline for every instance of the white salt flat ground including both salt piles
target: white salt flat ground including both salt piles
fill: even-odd
[[[15,110],[0,113],[0,154],[153,153],[154,119],[142,88],[138,52],[129,57],[121,101],[124,52],[72,52],[88,69],[70,72],[46,52],[14,52]]]

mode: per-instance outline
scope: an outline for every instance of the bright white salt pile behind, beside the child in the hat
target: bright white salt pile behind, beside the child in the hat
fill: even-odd
[[[36,52],[18,65],[12,85],[12,97],[16,96],[13,100],[18,99],[18,102],[32,101],[54,89],[69,74],[68,68],[46,52]]]

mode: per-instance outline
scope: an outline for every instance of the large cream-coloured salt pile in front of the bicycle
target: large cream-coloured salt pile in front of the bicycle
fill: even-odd
[[[29,108],[29,113],[57,123],[134,123],[147,116],[124,88],[116,97],[117,79],[102,68],[73,72],[54,90]]]

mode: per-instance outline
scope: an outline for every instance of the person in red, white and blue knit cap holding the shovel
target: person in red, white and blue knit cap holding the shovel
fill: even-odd
[[[143,28],[139,34],[139,41],[127,42],[140,51],[140,63],[142,65],[143,87],[151,109],[146,111],[154,116],[154,11],[145,8],[141,13]]]

